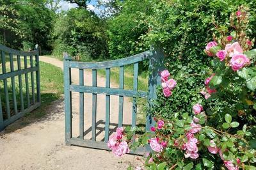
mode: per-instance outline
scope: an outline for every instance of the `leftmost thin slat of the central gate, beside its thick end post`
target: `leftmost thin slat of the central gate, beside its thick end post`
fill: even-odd
[[[84,86],[84,70],[79,69],[79,85]],[[84,139],[84,93],[79,93],[79,138]]]

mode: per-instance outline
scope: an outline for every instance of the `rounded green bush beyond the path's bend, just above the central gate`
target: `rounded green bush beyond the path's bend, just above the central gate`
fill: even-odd
[[[62,58],[62,52],[68,52],[82,61],[107,58],[104,27],[104,20],[83,8],[60,13],[54,26],[53,54]]]

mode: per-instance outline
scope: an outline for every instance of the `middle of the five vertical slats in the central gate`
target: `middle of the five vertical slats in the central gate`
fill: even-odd
[[[106,88],[110,88],[110,68],[106,68]],[[108,137],[109,137],[109,118],[110,118],[110,95],[106,95],[105,142],[108,142]]]

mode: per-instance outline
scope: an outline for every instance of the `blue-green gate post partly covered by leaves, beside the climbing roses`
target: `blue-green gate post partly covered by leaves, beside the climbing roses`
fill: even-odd
[[[161,84],[160,72],[164,70],[164,52],[163,49],[156,45],[151,47],[152,54],[149,58],[149,77],[148,77],[148,104],[149,109],[154,105],[154,99],[157,98],[157,86]],[[146,131],[154,124],[151,113],[148,112]]]

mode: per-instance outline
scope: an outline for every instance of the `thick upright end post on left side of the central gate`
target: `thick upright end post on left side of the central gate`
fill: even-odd
[[[72,60],[67,53],[63,53],[63,71],[64,71],[64,101],[65,101],[65,142],[70,145],[72,138],[72,97],[69,86],[71,84],[71,68],[69,61]]]

